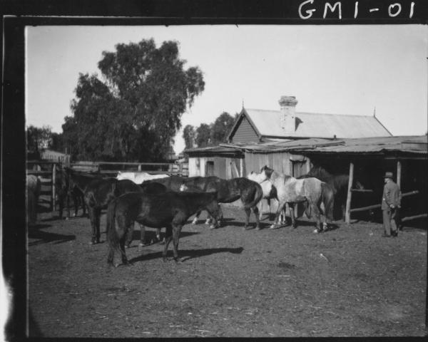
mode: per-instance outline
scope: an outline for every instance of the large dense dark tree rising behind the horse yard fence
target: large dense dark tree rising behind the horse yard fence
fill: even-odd
[[[79,74],[64,143],[85,160],[158,161],[181,127],[181,116],[204,87],[197,67],[185,69],[178,43],[153,39],[103,52],[96,75]]]

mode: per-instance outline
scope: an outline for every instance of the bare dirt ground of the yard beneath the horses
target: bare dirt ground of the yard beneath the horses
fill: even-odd
[[[180,263],[164,263],[161,244],[139,248],[135,232],[132,265],[111,269],[105,214],[95,246],[88,218],[40,214],[28,234],[30,336],[425,336],[426,229],[382,238],[381,224],[314,234],[305,220],[264,220],[244,231],[243,209],[223,213],[219,229],[205,216],[183,227]]]

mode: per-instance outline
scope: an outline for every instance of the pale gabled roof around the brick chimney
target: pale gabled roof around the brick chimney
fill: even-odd
[[[260,137],[265,138],[367,138],[392,136],[374,116],[296,112],[297,128],[286,133],[281,128],[280,110],[243,109],[230,135],[235,133],[242,115]]]

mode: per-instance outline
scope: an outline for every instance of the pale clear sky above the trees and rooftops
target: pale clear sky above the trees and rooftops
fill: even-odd
[[[61,133],[72,115],[79,73],[101,73],[103,51],[154,38],[178,41],[185,68],[198,66],[205,90],[182,127],[212,123],[243,108],[279,110],[282,95],[296,111],[373,115],[393,135],[427,133],[428,26],[201,25],[28,26],[26,125]],[[182,128],[182,129],[183,129]],[[182,130],[176,153],[184,149]]]

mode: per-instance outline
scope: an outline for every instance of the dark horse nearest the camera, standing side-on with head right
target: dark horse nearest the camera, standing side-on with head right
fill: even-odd
[[[200,209],[206,209],[215,218],[219,217],[215,192],[164,192],[158,195],[128,193],[114,199],[107,210],[107,239],[109,265],[113,264],[115,251],[121,253],[123,264],[128,264],[125,243],[136,221],[148,227],[166,227],[163,261],[166,261],[168,245],[173,239],[174,260],[178,261],[178,239],[188,218]]]

